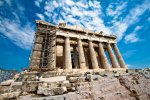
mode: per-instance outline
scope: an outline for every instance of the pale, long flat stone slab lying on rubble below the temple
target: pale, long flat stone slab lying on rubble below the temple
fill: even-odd
[[[42,82],[59,82],[59,81],[65,81],[66,76],[55,76],[55,77],[49,77],[49,78],[39,78],[39,81]]]

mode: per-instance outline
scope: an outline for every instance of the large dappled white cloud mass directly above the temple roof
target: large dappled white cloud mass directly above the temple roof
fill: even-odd
[[[103,13],[99,1],[48,1],[45,2],[44,14],[55,24],[65,21],[70,25],[76,24],[90,30],[104,31],[104,34],[111,34],[111,30],[102,20]]]

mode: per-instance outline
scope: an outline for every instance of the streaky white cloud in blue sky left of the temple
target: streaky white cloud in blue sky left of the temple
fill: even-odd
[[[7,26],[7,27],[5,27]],[[29,49],[33,42],[33,27],[27,23],[24,27],[17,21],[3,19],[0,22],[0,32],[21,48]]]

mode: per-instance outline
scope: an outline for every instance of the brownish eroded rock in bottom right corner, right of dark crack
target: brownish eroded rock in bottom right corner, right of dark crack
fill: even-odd
[[[121,76],[120,82],[139,100],[150,99],[150,79],[142,75]]]

